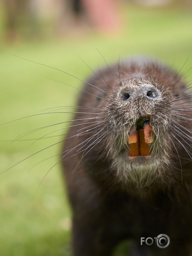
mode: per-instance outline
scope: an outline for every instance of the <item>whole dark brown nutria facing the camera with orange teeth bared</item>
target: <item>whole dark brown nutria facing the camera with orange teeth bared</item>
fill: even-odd
[[[192,252],[192,104],[180,73],[137,58],[85,83],[62,159],[75,256],[110,256],[126,239],[134,256]]]

